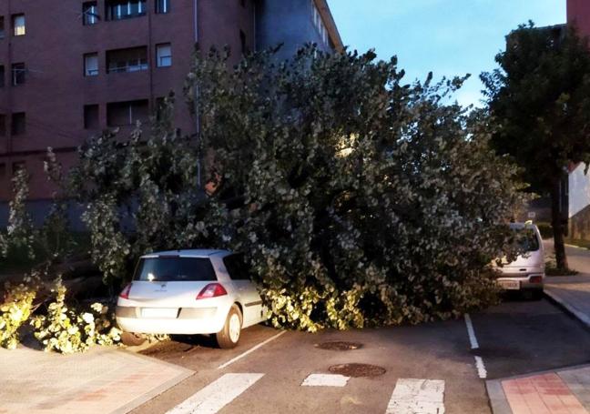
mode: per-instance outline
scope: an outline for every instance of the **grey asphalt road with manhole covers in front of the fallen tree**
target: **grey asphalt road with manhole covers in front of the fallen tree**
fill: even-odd
[[[477,350],[471,349],[463,319],[417,327],[286,332],[223,369],[219,366],[278,331],[249,328],[239,348],[230,351],[213,348],[207,338],[177,338],[144,353],[196,374],[133,412],[167,412],[200,389],[215,387],[224,374],[250,373],[263,375],[219,412],[384,413],[398,379],[442,379],[447,413],[489,413],[474,356],[483,359],[488,379],[590,361],[590,332],[545,300],[509,300],[472,319]],[[332,340],[358,342],[362,348],[315,347]],[[376,365],[386,372],[375,378],[351,378],[341,388],[301,386],[310,374],[329,373],[331,366],[344,363]]]

